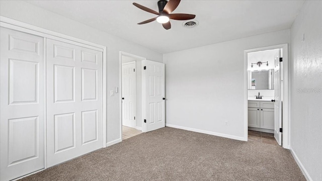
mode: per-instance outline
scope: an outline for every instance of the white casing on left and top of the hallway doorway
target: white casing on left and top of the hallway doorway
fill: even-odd
[[[120,69],[119,69],[119,71],[120,71],[120,90],[119,91],[120,91],[120,93],[122,93],[122,56],[132,57],[132,58],[135,59],[135,61],[146,60],[145,57],[141,57],[141,56],[138,56],[138,55],[134,55],[134,54],[131,54],[131,53],[127,53],[127,52],[124,52],[124,51],[120,51],[120,55],[119,55],[119,61],[120,61],[119,62],[119,66],[120,66]],[[135,76],[136,76],[136,73],[135,73]],[[123,125],[123,123],[122,123],[122,120],[123,120],[122,114],[123,113],[122,113],[122,97],[121,97],[122,94],[119,94],[119,95],[120,95],[120,97],[119,97],[119,100],[120,100],[120,139],[121,139],[121,141],[123,141],[122,140],[122,125]],[[136,111],[137,111],[137,108],[136,108]],[[143,120],[142,120],[142,122],[143,122]],[[142,126],[143,126],[143,124],[142,124]]]

